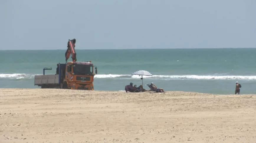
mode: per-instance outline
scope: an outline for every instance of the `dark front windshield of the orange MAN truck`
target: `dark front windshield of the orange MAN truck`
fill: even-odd
[[[91,65],[76,65],[73,67],[75,75],[92,75],[93,67]]]

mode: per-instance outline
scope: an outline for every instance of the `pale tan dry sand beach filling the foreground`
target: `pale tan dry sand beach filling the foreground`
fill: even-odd
[[[256,96],[0,89],[0,142],[256,142]]]

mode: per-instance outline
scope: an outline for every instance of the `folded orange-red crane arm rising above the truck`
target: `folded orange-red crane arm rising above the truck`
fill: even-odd
[[[66,62],[68,61],[68,58],[70,57],[70,54],[72,55],[72,61],[76,61],[76,50],[75,50],[75,44],[76,44],[76,39],[68,39],[68,49],[65,53],[66,57]]]

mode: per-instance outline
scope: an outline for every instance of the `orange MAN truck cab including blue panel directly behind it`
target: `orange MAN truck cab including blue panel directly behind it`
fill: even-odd
[[[70,61],[66,64],[59,64],[59,83],[62,89],[93,90],[94,75],[97,74],[97,67],[87,62]]]

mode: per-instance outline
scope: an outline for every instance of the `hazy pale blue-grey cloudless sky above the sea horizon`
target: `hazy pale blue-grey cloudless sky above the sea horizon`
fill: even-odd
[[[3,0],[1,50],[256,47],[256,0]]]

